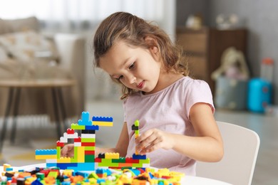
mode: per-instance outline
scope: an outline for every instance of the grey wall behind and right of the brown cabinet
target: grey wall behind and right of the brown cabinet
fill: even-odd
[[[252,77],[259,76],[263,58],[274,59],[274,104],[278,105],[278,1],[277,0],[177,0],[177,25],[188,14],[201,11],[205,24],[215,26],[218,14],[237,14],[248,29],[247,63]]]

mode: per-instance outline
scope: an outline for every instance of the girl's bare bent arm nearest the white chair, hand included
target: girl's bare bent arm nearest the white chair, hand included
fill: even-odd
[[[138,151],[140,154],[145,154],[158,148],[174,149],[198,161],[220,161],[224,154],[222,137],[211,107],[205,103],[193,105],[190,110],[190,121],[196,132],[195,137],[150,129],[136,139]]]

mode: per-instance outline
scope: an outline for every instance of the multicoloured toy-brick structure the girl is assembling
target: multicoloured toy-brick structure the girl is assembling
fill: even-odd
[[[63,137],[56,142],[56,149],[36,150],[36,159],[46,159],[46,166],[57,166],[60,169],[91,171],[96,166],[103,166],[113,169],[119,168],[145,168],[150,166],[150,159],[145,155],[135,152],[132,158],[120,157],[119,153],[104,153],[95,156],[96,150],[96,130],[100,126],[113,126],[112,117],[92,117],[89,120],[88,112],[82,112],[81,120],[78,124],[71,124]],[[133,127],[135,138],[139,136],[139,121],[136,120]],[[81,135],[75,130],[81,130]],[[61,147],[68,143],[68,139],[73,139],[74,156],[61,157]],[[88,181],[89,183],[89,181]]]

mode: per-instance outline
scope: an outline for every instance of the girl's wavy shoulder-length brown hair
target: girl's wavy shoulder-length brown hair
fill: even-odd
[[[146,42],[146,37],[153,38],[155,42]],[[182,60],[181,48],[173,44],[165,31],[158,26],[147,23],[142,18],[125,12],[111,14],[98,26],[93,38],[95,67],[100,67],[100,58],[119,40],[135,47],[152,48],[156,46],[163,61],[162,65],[167,72],[171,71],[181,73],[182,75],[188,74],[186,61]],[[120,83],[118,80],[113,80]],[[121,99],[128,97],[128,95],[134,92],[135,90],[127,88],[122,84],[123,96]]]

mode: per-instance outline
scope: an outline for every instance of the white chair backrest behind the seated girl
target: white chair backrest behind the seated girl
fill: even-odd
[[[259,152],[259,136],[251,129],[217,122],[225,154],[220,162],[197,162],[197,176],[230,184],[251,184]]]

